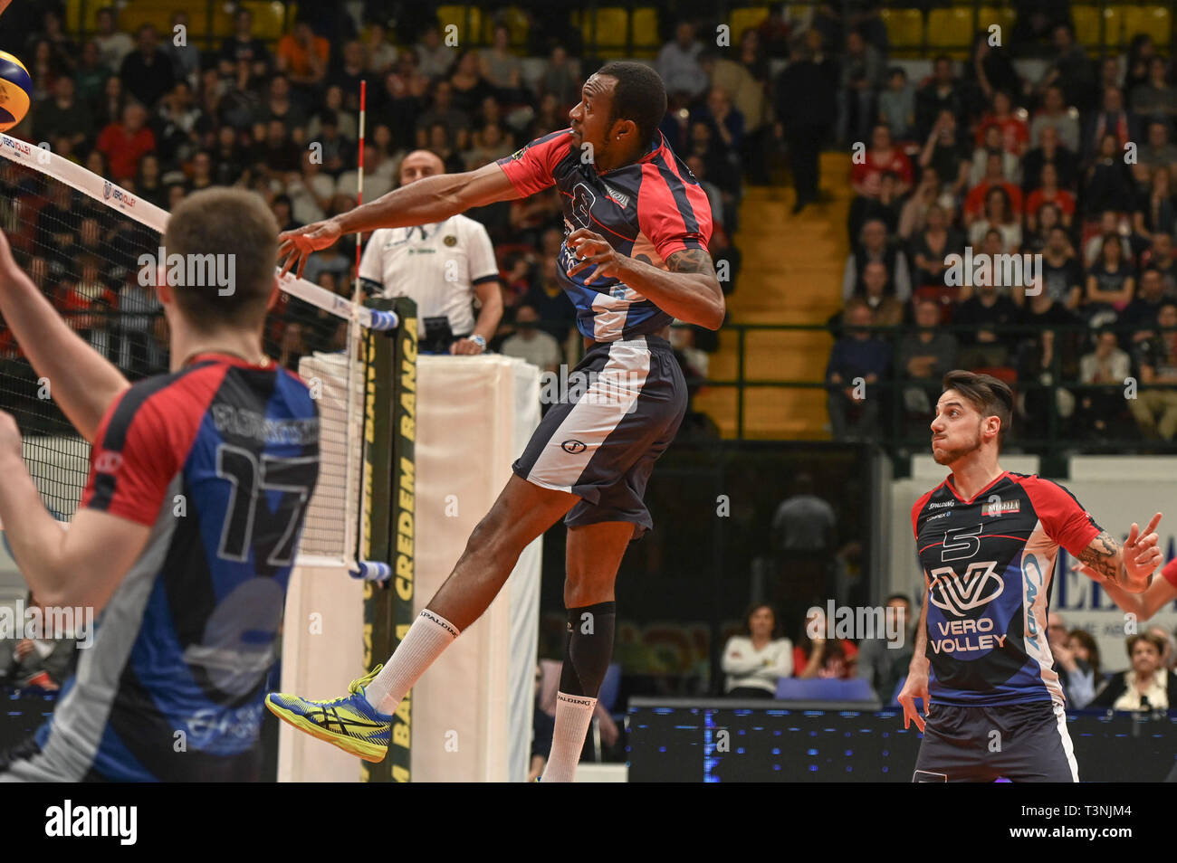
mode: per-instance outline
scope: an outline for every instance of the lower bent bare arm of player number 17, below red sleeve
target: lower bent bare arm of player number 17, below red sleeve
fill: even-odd
[[[25,467],[16,422],[2,410],[0,476],[0,523],[13,560],[38,601],[88,607],[98,614],[142,553],[151,528],[87,508],[62,530]]]

